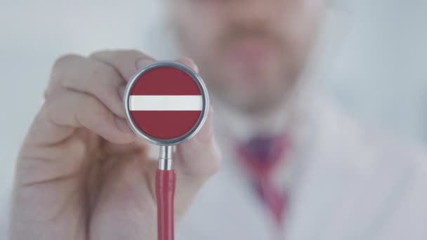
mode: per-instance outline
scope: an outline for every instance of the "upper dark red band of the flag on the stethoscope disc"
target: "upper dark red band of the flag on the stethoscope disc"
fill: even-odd
[[[133,85],[131,95],[202,95],[190,75],[175,67],[145,72]]]

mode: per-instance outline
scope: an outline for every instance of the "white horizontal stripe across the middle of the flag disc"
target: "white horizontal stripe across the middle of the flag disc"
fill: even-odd
[[[131,111],[202,111],[202,95],[131,95]]]

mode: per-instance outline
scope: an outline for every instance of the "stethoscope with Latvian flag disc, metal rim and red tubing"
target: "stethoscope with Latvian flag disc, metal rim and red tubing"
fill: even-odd
[[[157,239],[173,240],[173,146],[189,140],[202,128],[209,112],[208,91],[190,67],[159,61],[131,78],[124,91],[124,107],[133,132],[160,146],[156,173]]]

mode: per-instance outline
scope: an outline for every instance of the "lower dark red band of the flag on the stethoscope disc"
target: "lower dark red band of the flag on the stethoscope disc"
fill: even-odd
[[[145,134],[159,139],[178,138],[197,124],[202,111],[131,111]]]

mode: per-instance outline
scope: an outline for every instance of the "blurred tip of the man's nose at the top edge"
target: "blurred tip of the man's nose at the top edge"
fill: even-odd
[[[274,3],[272,0],[230,0],[228,18],[237,25],[262,25],[272,18]]]

